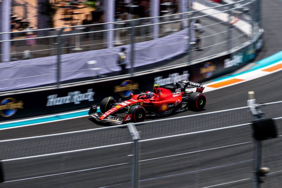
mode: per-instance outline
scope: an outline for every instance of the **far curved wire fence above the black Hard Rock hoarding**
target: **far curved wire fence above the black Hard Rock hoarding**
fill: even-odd
[[[31,77],[40,80],[46,75],[53,75],[54,81],[50,80],[47,85],[62,85],[174,67],[232,52],[246,44],[246,41],[252,41],[259,32],[259,3],[259,0],[240,0],[215,6],[207,1],[197,0],[194,1],[194,10],[185,13],[113,23],[0,33],[1,47],[11,49],[10,53],[2,53],[1,58],[14,61],[5,65],[1,63],[1,71],[9,72],[11,68],[20,68],[21,72],[28,72],[36,66],[36,71],[30,71],[28,75],[1,78],[0,82]],[[240,19],[237,23],[232,23],[236,18]],[[201,19],[201,29],[204,30],[200,37],[200,48],[203,51],[195,49],[194,23],[197,19]],[[7,40],[9,36],[11,40]],[[126,47],[127,54],[127,69],[123,71],[117,65],[117,54],[121,47]],[[71,62],[72,66],[67,62]],[[84,72],[86,70],[89,71],[87,76]],[[76,77],[70,80],[69,75]]]

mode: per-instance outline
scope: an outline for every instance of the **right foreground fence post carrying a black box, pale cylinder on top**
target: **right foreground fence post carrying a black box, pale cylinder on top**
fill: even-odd
[[[260,110],[260,106],[257,106],[255,103],[255,92],[249,91],[248,92],[248,106],[250,107],[250,110],[254,116],[254,120],[261,120],[264,119],[263,112]],[[262,162],[262,141],[255,140],[255,164],[254,164],[254,187],[259,188],[259,169],[261,168],[261,162]]]

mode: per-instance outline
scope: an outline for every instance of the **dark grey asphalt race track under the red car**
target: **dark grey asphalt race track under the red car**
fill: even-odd
[[[279,0],[263,2],[265,15],[263,17],[263,27],[266,31],[265,48],[267,47],[268,50],[265,52],[266,57],[268,54],[271,55],[276,53],[277,50],[279,50],[279,47],[282,46],[282,41],[278,32],[281,31],[282,25],[277,24],[280,23],[281,18],[281,3],[282,2]],[[274,28],[277,32],[273,31]],[[267,32],[268,30],[270,30],[269,33]],[[278,38],[273,40],[273,37]],[[255,91],[255,96],[258,102],[281,101],[281,80],[282,74],[280,71],[259,79],[241,83],[239,85],[208,92],[206,93],[207,104],[205,111],[187,111],[181,114],[176,114],[173,117],[246,106],[247,92],[250,90]],[[282,112],[280,110],[281,109],[274,108],[272,109],[272,112],[277,113],[275,114],[276,116],[279,114],[281,116]],[[245,114],[243,116],[245,117],[244,121],[251,118],[248,114],[250,112],[247,112],[246,110],[242,112]],[[269,112],[271,112],[271,109],[269,109]],[[224,117],[214,118],[217,119],[217,123],[222,123],[222,121],[232,121],[233,123],[237,123],[241,121],[241,116],[234,118],[232,115],[233,114],[226,114]],[[268,116],[271,115],[268,113]],[[202,119],[202,121],[206,121],[208,124],[211,119]],[[223,122],[222,124],[226,122]],[[180,121],[177,123],[180,123]],[[282,125],[281,120],[277,120],[277,123],[278,125]],[[166,130],[162,130],[159,127],[168,127],[168,125],[164,125],[164,123],[160,124],[161,126],[154,124],[154,126],[152,125],[147,128],[145,126],[140,126],[138,129],[143,131],[155,131],[151,133],[149,132],[148,134],[142,134],[143,136],[149,135],[148,138],[150,138],[150,135],[154,136],[154,134],[166,134]],[[98,127],[102,126],[93,124],[93,122],[86,117],[77,118],[75,120],[60,121],[57,123],[46,123],[38,126],[35,125],[3,130],[0,131],[0,136],[1,140],[5,140]],[[177,127],[174,131],[177,132],[180,128],[181,127]],[[191,128],[195,128],[197,131],[201,127],[197,127],[197,124],[194,124],[194,127]],[[278,130],[279,135],[281,135],[282,127],[279,126]],[[119,129],[114,132],[117,134],[125,131],[127,130]],[[170,139],[142,141],[140,143],[140,160],[146,161],[140,162],[140,180],[142,180],[140,182],[141,187],[207,187],[236,180],[242,181],[220,185],[218,187],[253,187],[252,180],[248,179],[252,177],[252,150],[254,145],[254,143],[251,142],[252,137],[250,136],[250,131],[250,126],[243,126]],[[171,134],[173,134],[173,132],[171,132]],[[99,134],[96,136],[98,135]],[[128,139],[124,136],[124,134],[123,138],[115,137],[115,134],[109,134],[108,136],[113,139],[104,141],[110,142],[111,140],[113,141],[114,138],[117,142],[122,139]],[[67,139],[68,138],[64,138],[63,140],[65,146],[75,147],[75,143],[77,143],[76,140],[72,140],[71,143],[73,143],[73,145],[70,146],[68,145],[70,140]],[[89,138],[89,140],[91,139]],[[241,144],[234,145],[239,143]],[[9,150],[11,155],[14,157],[25,156],[28,154],[32,155],[30,151],[25,150],[27,147],[26,144],[27,143],[17,143],[18,146],[13,146],[14,148],[10,147],[10,150],[9,148],[6,148],[6,150]],[[34,144],[36,145],[38,143]],[[44,144],[49,145],[48,149],[56,148],[56,142],[43,142],[42,145]],[[207,150],[222,146],[228,147]],[[77,147],[79,147],[79,145]],[[281,148],[281,138],[264,142],[264,163],[265,166],[271,168],[271,172],[281,170],[280,166],[282,156],[279,148]],[[52,152],[51,150],[53,150],[51,149],[48,151],[48,149],[45,147],[38,147],[37,152]],[[57,149],[59,150],[60,148]],[[201,152],[183,154],[200,150]],[[1,151],[4,151],[3,148]],[[0,187],[102,187],[126,183],[130,180],[130,164],[122,165],[122,163],[131,162],[131,158],[128,156],[129,154],[131,154],[131,145],[123,145],[70,155],[42,157],[37,159],[20,160],[17,162],[5,162],[4,168],[6,171],[5,175],[7,181],[82,169],[97,167],[104,168],[74,172],[70,174],[59,174],[56,176],[48,176],[31,180],[7,182],[2,183]],[[182,155],[153,160],[153,158],[176,154]],[[4,157],[3,154],[1,157]],[[6,157],[6,159],[7,158],[8,157]],[[5,159],[5,157],[3,159]],[[105,167],[116,164],[121,165]],[[219,167],[220,165],[221,167]],[[173,176],[173,174],[178,175]],[[130,187],[130,185],[123,184],[114,187]],[[282,187],[281,172],[270,174],[262,187]]]

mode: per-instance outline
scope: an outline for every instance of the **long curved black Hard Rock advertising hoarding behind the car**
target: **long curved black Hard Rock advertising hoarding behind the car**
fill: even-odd
[[[182,79],[204,82],[228,74],[254,59],[261,48],[262,36],[232,55],[226,54],[196,64],[149,74],[100,81],[72,87],[0,96],[0,121],[54,114],[89,108],[108,96],[125,100],[130,93],[152,90],[154,84],[174,85]]]

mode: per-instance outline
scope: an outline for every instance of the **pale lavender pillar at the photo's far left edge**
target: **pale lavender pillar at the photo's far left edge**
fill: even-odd
[[[1,32],[10,32],[11,31],[11,15],[10,15],[10,10],[11,10],[11,0],[5,0],[0,3],[1,6]],[[10,40],[11,39],[11,34],[2,34],[0,37],[1,40]],[[11,59],[11,42],[2,42],[1,44],[1,54],[6,54],[2,55],[2,62],[7,62],[10,61]]]

